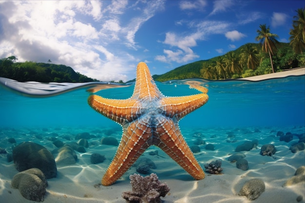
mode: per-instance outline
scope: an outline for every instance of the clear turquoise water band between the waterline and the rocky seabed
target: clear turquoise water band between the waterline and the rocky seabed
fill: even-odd
[[[0,78],[1,127],[111,127],[113,121],[87,104],[88,90],[107,83],[19,83]],[[191,79],[208,88],[207,104],[187,115],[180,127],[276,127],[305,124],[305,76],[288,76],[258,82]],[[166,96],[198,93],[184,81],[157,82]],[[119,87],[113,84],[112,87]],[[96,94],[125,99],[134,84],[104,89]]]

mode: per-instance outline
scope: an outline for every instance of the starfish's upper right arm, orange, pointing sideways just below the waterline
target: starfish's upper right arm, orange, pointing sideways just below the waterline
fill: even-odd
[[[208,94],[200,93],[191,96],[165,97],[161,99],[161,107],[166,116],[180,120],[188,113],[200,108],[209,100]]]

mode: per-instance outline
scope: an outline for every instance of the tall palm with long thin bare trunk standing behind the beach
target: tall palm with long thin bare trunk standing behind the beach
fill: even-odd
[[[269,53],[270,61],[271,61],[271,67],[272,72],[274,73],[273,63],[272,63],[272,57],[273,53],[277,51],[276,45],[279,44],[279,41],[276,39],[279,36],[276,34],[270,33],[269,26],[266,27],[266,24],[260,25],[261,30],[257,30],[258,36],[255,37],[257,41],[260,41],[260,44],[262,45],[262,51]]]

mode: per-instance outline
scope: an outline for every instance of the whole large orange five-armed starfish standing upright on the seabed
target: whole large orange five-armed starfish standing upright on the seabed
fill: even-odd
[[[119,147],[102,178],[102,185],[112,185],[152,145],[165,151],[194,179],[205,177],[178,126],[181,118],[209,99],[206,88],[194,84],[191,87],[202,93],[166,97],[158,90],[146,63],[140,62],[133,95],[129,99],[89,96],[88,103],[95,111],[123,128]]]

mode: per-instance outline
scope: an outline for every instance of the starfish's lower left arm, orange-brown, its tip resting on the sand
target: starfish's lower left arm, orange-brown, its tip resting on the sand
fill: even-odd
[[[150,146],[151,129],[135,121],[124,128],[120,145],[114,159],[102,179],[102,185],[112,185],[119,179]]]

